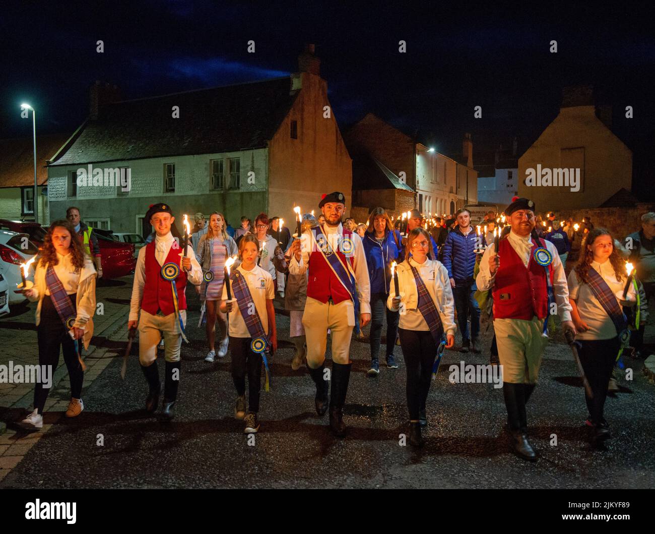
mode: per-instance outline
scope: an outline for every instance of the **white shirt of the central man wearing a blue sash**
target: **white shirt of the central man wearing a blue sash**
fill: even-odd
[[[332,250],[337,250],[339,238],[343,236],[343,226],[323,225],[324,233],[327,242],[332,247]],[[314,239],[314,233],[307,230],[301,236],[301,258],[296,261],[295,254],[291,257],[289,263],[289,273],[291,275],[303,275],[307,271],[309,265],[310,250],[315,251],[316,254],[321,254],[318,250],[318,244]],[[355,282],[357,286],[357,296],[360,300],[360,313],[371,313],[371,280],[369,279],[368,267],[366,265],[366,256],[364,254],[364,245],[362,238],[356,232],[352,233],[352,244],[354,250],[352,252],[352,269],[355,271]]]

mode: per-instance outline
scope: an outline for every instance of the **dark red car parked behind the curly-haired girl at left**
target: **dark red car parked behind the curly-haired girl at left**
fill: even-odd
[[[46,229],[39,223],[10,221],[8,219],[0,219],[0,230],[26,233],[29,235],[29,240],[39,248],[43,245],[43,239],[47,233]],[[134,244],[122,243],[116,240],[112,237],[111,231],[108,230],[94,228],[93,233],[98,237],[98,246],[100,247],[100,254],[102,254],[102,278],[104,280],[120,278],[134,273],[134,267],[136,267]]]

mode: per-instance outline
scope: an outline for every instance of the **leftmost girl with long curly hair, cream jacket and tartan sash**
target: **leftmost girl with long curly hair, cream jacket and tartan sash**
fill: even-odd
[[[66,417],[76,417],[84,410],[82,383],[84,364],[77,352],[77,343],[88,348],[93,335],[96,313],[96,269],[90,256],[84,254],[75,229],[69,221],[54,221],[43,242],[41,258],[34,273],[34,286],[24,288],[31,301],[39,301],[36,312],[39,365],[59,362],[60,347],[71,383],[71,402]],[[50,387],[37,383],[34,387],[34,411],[20,426],[38,430],[43,427],[43,408]]]

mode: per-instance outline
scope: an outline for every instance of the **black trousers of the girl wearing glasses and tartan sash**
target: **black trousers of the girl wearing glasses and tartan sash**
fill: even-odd
[[[410,421],[418,421],[432,381],[432,366],[437,356],[437,344],[432,334],[422,330],[398,328],[407,369],[407,410]]]

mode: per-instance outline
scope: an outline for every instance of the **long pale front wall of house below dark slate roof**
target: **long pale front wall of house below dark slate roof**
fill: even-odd
[[[193,219],[202,212],[208,216],[218,211],[225,214],[233,227],[238,227],[242,215],[254,218],[266,209],[267,151],[257,149],[223,154],[178,156],[171,158],[114,161],[98,164],[102,168],[129,166],[132,169],[132,189],[126,195],[117,195],[114,187],[78,187],[77,197],[67,197],[67,176],[79,165],[50,166],[48,168],[48,199],[50,218],[63,218],[68,206],[81,210],[82,218],[109,218],[110,228],[116,232],[141,233],[137,217],[143,216],[150,204],[170,202],[181,230],[183,214]],[[215,191],[211,189],[210,161],[213,159],[240,158],[239,191]],[[176,191],[164,191],[164,164],[176,164]],[[227,164],[226,164],[227,170]],[[248,182],[248,172],[254,172],[253,183]],[[228,176],[226,173],[225,180]],[[193,224],[193,222],[192,222]]]

